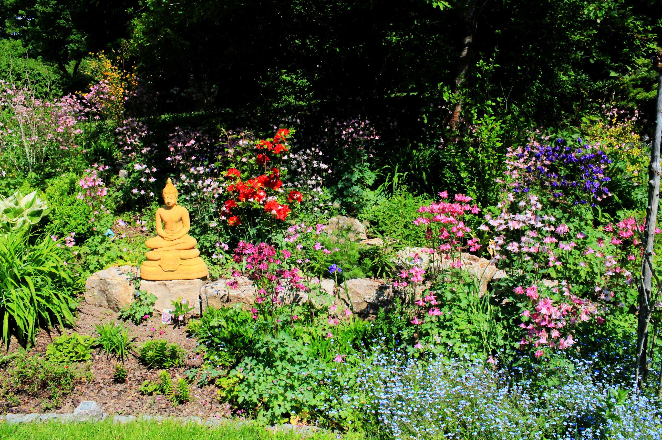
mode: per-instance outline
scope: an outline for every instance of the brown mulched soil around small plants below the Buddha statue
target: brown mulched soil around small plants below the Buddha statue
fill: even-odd
[[[89,306],[84,301],[77,309],[77,321],[73,328],[66,329],[67,333],[77,331],[83,335],[96,335],[95,324],[115,322],[117,313],[105,308]],[[124,323],[130,333],[136,337],[134,343],[140,345],[148,339],[166,339],[176,342],[183,347],[187,353],[185,366],[179,369],[171,369],[171,376],[185,376],[185,371],[199,367],[202,363],[201,355],[196,353],[195,339],[189,339],[185,328],[174,328],[172,325],[161,324],[161,314],[154,312],[154,316],[146,322],[136,326],[131,322]],[[152,331],[154,329],[154,331]],[[163,334],[160,334],[163,331]],[[50,334],[42,330],[37,336],[36,346],[30,349],[30,353],[46,353],[46,346],[51,343],[52,338],[58,337],[58,331]],[[15,342],[15,341],[14,341]],[[9,351],[18,349],[18,344],[13,343]],[[169,400],[162,396],[142,396],[140,386],[144,380],[156,380],[160,370],[150,370],[138,363],[135,357],[137,353],[124,361],[124,367],[128,371],[126,383],[118,384],[113,381],[115,372],[115,359],[107,359],[105,353],[99,353],[95,349],[90,363],[91,376],[93,380],[83,380],[75,386],[75,390],[65,396],[62,407],[54,412],[73,412],[74,408],[83,400],[94,400],[109,414],[131,414],[131,415],[160,415],[160,416],[205,416],[205,417],[227,417],[230,411],[227,404],[220,404],[216,400],[215,386],[204,386],[198,388],[196,384],[191,385],[191,402],[173,406]],[[175,379],[176,380],[176,379]],[[10,408],[9,412],[24,414],[31,412],[42,412],[38,399],[26,399],[19,406]],[[53,412],[53,411],[50,411]]]

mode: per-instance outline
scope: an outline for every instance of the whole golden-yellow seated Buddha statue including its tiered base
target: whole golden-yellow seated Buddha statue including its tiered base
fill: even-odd
[[[156,210],[156,237],[145,245],[150,248],[140,266],[140,278],[148,281],[192,280],[207,277],[207,265],[195,249],[197,241],[189,236],[189,212],[177,204],[177,189],[167,179],[163,191],[166,206]]]

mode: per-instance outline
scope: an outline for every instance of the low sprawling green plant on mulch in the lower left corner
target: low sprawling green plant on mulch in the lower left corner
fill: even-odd
[[[57,363],[21,351],[0,374],[0,411],[24,398],[43,399],[44,408],[57,408],[88,371],[86,365]]]

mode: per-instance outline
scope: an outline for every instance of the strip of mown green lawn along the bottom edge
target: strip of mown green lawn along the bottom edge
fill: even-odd
[[[344,439],[360,440],[364,437],[344,435]],[[112,421],[101,423],[26,423],[7,425],[0,423],[2,440],[258,440],[295,439],[335,440],[336,435],[317,433],[304,437],[294,433],[273,433],[264,427],[250,425],[220,425],[205,427],[177,421],[138,421],[126,425],[114,425]]]

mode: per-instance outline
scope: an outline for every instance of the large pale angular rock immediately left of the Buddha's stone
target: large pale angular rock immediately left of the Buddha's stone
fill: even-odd
[[[135,287],[130,281],[132,270],[135,269],[131,266],[122,266],[93,273],[85,281],[85,301],[119,312],[134,298]]]

